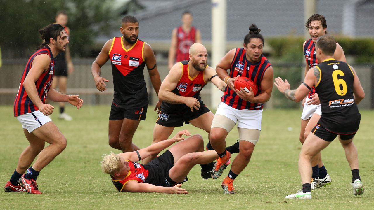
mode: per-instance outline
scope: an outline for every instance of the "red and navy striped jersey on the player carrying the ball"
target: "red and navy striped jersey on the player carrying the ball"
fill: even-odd
[[[270,64],[270,62],[263,55],[261,55],[259,62],[249,62],[245,56],[245,49],[236,48],[234,59],[231,62],[230,77],[236,77],[237,75],[240,75],[243,77],[251,78],[251,80],[254,81],[258,86],[258,93],[256,94],[257,96],[261,93],[261,80],[264,77],[264,73],[267,68],[271,66],[272,65]],[[229,86],[226,87],[221,101],[235,109],[258,110],[263,109],[264,106],[263,104],[244,101],[239,96],[237,96],[235,91],[230,89]]]

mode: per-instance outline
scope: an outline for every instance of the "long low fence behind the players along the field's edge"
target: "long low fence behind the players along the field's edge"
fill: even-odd
[[[113,80],[111,74],[110,63],[107,62],[102,67],[102,77],[109,79],[107,82],[107,91],[99,92],[93,82],[91,75],[92,59],[73,60],[74,72],[69,75],[67,92],[69,94],[78,94],[85,101],[85,105],[110,104],[113,100]],[[271,61],[271,59],[270,59]],[[4,60],[3,66],[0,68],[0,105],[12,105],[15,95],[19,88],[19,81],[24,71],[27,60],[12,59]],[[274,77],[286,78],[292,85],[291,88],[297,88],[301,82],[303,74],[303,64],[290,63],[273,63]],[[161,80],[168,74],[166,61],[157,60],[157,67],[160,72]],[[360,78],[362,87],[365,90],[365,99],[359,104],[359,108],[374,108],[374,64],[356,64],[353,65],[358,77]],[[147,70],[144,70],[144,77],[148,88],[150,103],[156,104],[157,95],[153,90]],[[210,106],[210,89],[216,88],[214,85],[208,84],[201,92],[202,100],[206,105]],[[267,108],[297,108],[300,104],[295,104],[287,100],[281,95],[276,88],[273,90],[272,97],[266,103]]]

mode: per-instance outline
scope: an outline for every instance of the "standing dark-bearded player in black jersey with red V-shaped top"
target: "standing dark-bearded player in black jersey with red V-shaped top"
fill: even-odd
[[[134,16],[125,16],[120,31],[123,37],[114,37],[104,44],[92,63],[91,71],[96,88],[105,91],[105,82],[109,80],[100,77],[101,67],[110,59],[114,99],[109,116],[109,145],[123,152],[131,152],[139,149],[132,143],[132,136],[140,120],[145,120],[147,114],[148,93],[143,74],[145,65],[157,95],[161,80],[151,46],[138,39],[138,20]],[[154,110],[159,107],[160,102]]]

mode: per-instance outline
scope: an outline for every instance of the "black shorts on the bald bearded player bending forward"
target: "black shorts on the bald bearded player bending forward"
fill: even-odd
[[[161,109],[156,123],[166,127],[181,127],[183,126],[183,123],[189,124],[188,121],[200,117],[206,112],[210,112],[210,110],[202,101],[200,101],[199,110],[194,109],[193,112],[191,112],[191,109],[189,108],[186,111],[179,113],[170,113],[167,110]]]

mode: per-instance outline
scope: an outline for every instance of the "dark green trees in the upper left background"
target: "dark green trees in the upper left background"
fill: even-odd
[[[89,56],[88,46],[95,37],[109,33],[116,13],[114,0],[14,0],[0,1],[0,45],[3,57],[28,57],[42,43],[39,29],[55,21],[65,10],[71,30],[70,48],[74,56]],[[6,9],[4,9],[6,8]],[[31,52],[30,52],[31,51]]]

